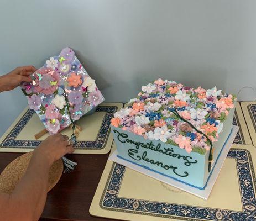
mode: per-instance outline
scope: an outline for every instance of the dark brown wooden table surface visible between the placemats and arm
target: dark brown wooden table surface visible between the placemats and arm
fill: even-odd
[[[0,171],[22,154],[0,153]],[[48,193],[40,220],[108,221],[91,217],[89,207],[106,165],[107,155],[67,155],[76,161],[75,171],[63,174],[59,183]]]

